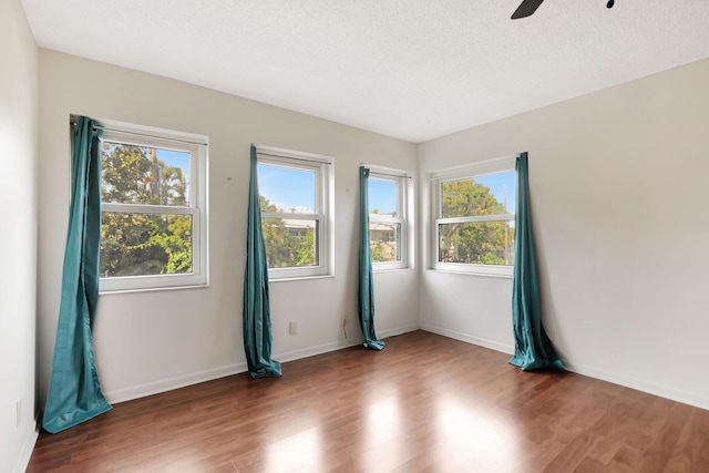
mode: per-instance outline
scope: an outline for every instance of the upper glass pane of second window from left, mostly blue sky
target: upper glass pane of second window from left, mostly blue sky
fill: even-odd
[[[314,214],[315,179],[315,171],[259,164],[261,210]]]

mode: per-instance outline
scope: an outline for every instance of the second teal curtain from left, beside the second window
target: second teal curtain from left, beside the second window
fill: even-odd
[[[256,146],[251,145],[246,270],[244,271],[244,350],[251,378],[280,377],[280,363],[270,358],[271,342],[268,261],[261,228],[258,160]]]

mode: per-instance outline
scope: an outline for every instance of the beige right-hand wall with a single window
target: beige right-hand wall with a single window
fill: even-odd
[[[708,84],[703,60],[418,150],[422,176],[527,151],[544,323],[562,358],[703,408]],[[423,178],[419,191],[428,194]],[[511,279],[425,270],[420,289],[422,327],[512,351]]]

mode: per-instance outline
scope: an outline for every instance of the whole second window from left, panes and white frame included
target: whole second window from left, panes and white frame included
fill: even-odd
[[[257,146],[258,189],[268,276],[332,274],[332,160]]]

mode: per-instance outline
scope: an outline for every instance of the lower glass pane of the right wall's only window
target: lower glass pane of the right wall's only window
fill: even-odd
[[[440,224],[439,261],[514,265],[514,222]]]

